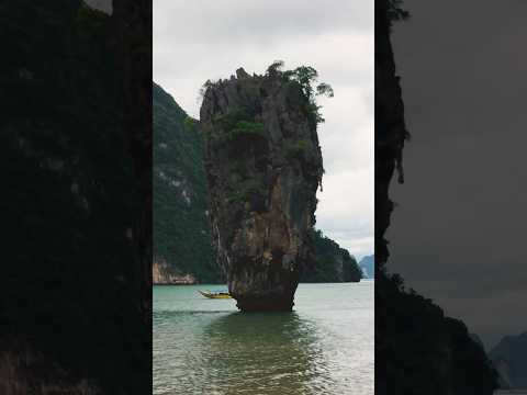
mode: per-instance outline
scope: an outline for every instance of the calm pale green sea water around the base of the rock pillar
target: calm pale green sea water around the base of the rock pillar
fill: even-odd
[[[154,394],[373,394],[373,281],[300,284],[292,313],[154,286]]]

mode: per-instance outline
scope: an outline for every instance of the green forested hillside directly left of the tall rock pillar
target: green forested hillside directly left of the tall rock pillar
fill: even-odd
[[[213,264],[208,219],[203,138],[197,122],[155,83],[153,100],[154,280],[182,281],[178,279],[191,274],[198,282],[217,282],[220,272]]]

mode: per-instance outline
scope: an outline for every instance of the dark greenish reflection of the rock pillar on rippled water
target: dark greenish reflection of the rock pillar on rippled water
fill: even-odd
[[[211,321],[200,350],[203,393],[327,393],[314,324],[295,313],[234,313]]]

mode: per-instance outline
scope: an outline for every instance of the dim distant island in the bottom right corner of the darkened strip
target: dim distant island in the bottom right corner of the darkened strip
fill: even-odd
[[[527,331],[505,336],[489,357],[498,373],[502,390],[527,390]]]

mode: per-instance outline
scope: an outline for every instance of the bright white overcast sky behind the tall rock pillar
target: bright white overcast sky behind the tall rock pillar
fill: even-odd
[[[321,99],[316,226],[357,258],[373,253],[373,1],[154,1],[154,80],[191,116],[208,79],[277,59],[313,66],[335,90]]]

